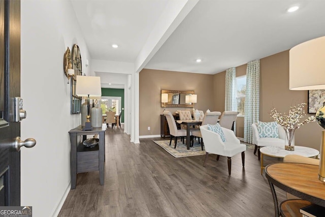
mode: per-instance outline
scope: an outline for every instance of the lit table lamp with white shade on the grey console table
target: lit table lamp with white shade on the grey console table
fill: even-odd
[[[87,120],[83,131],[92,130],[90,122],[90,97],[101,97],[101,78],[95,76],[77,75],[76,95],[78,97],[87,97]]]

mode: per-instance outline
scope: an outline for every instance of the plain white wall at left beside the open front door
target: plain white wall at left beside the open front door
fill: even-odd
[[[63,54],[75,43],[90,61],[70,1],[21,1],[21,138],[37,141],[21,149],[21,205],[32,206],[35,217],[57,215],[70,190],[68,132],[81,120],[70,114]],[[90,75],[85,61],[82,68]]]

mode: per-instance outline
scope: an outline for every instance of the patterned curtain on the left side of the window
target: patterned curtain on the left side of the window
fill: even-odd
[[[225,70],[224,111],[237,111],[235,67]],[[236,135],[236,122],[234,124],[234,133]]]

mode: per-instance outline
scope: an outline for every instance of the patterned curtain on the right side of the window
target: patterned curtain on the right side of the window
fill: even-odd
[[[244,109],[244,141],[252,143],[252,123],[259,119],[259,59],[247,63]]]

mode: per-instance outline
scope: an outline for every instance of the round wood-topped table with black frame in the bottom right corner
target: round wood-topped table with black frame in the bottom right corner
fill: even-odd
[[[298,163],[275,163],[265,167],[276,217],[279,216],[279,205],[274,185],[303,200],[325,207],[325,182],[318,180],[318,168],[316,165]]]

